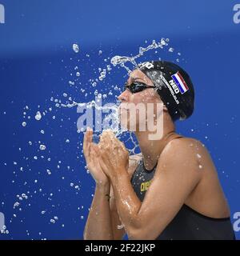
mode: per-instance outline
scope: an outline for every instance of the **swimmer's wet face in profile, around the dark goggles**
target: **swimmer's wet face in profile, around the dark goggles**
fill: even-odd
[[[146,84],[146,86],[154,86],[154,83],[150,80],[150,78],[148,78],[141,70],[134,70],[130,73],[126,83],[127,85],[130,85],[132,82],[141,82]],[[154,88],[148,88],[137,93],[131,93],[129,89],[126,89],[118,96],[118,99],[121,101],[119,106],[121,124],[127,130],[133,131],[139,130],[140,124],[146,125],[146,120],[148,118],[146,113],[149,113],[147,108],[149,108],[150,105],[154,106],[152,111],[153,113],[150,113],[150,115],[152,114],[154,117],[156,117],[157,103],[162,103],[161,98]],[[148,103],[152,104],[148,105]],[[138,106],[140,106],[140,110],[138,109]],[[131,114],[134,114],[136,117],[135,123]]]

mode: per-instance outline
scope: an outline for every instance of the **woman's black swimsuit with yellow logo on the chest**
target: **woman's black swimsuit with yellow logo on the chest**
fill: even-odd
[[[146,170],[141,160],[134,171],[131,184],[141,202],[154,177],[155,170],[156,166],[153,170]],[[235,236],[230,218],[210,218],[184,204],[166,229],[156,238],[156,240],[175,239],[234,240]]]

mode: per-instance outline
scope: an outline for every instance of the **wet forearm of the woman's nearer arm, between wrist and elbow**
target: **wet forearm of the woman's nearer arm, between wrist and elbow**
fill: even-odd
[[[138,212],[142,203],[134,193],[133,187],[130,184],[129,174],[126,171],[122,171],[118,177],[114,178],[112,184],[119,217],[122,220],[126,233],[130,237],[131,234],[134,234],[135,230],[138,230],[141,224]]]

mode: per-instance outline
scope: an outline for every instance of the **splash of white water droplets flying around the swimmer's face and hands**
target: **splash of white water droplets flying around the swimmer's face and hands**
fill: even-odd
[[[39,175],[40,174],[46,175],[46,176],[43,176],[43,178],[54,178],[54,176],[55,177],[57,176],[62,180],[64,180],[64,176],[65,176],[65,174],[63,174],[64,171],[66,172],[74,171],[74,167],[71,166],[71,163],[68,166],[66,165],[65,167],[62,167],[64,166],[64,160],[62,161],[63,159],[62,156],[59,157],[60,159],[59,158],[56,159],[57,156],[53,155],[52,151],[50,150],[51,143],[48,141],[47,142],[42,141],[43,138],[47,138],[47,136],[50,136],[50,138],[54,138],[55,134],[57,134],[57,132],[54,134],[54,131],[48,129],[51,126],[51,124],[54,124],[54,122],[56,122],[55,124],[57,124],[57,122],[61,122],[61,125],[59,125],[59,128],[60,127],[66,128],[66,125],[64,126],[64,121],[61,118],[61,113],[65,111],[63,109],[76,110],[78,107],[86,106],[88,108],[102,110],[102,112],[108,112],[109,114],[106,114],[104,118],[106,118],[105,119],[106,122],[111,120],[110,129],[114,131],[114,134],[119,140],[121,140],[125,144],[130,145],[128,148],[130,154],[137,153],[137,150],[139,149],[139,147],[138,147],[138,142],[136,138],[134,138],[134,133],[127,132],[127,136],[126,136],[126,130],[122,130],[121,127],[119,126],[118,104],[116,104],[116,106],[113,107],[113,106],[100,106],[98,104],[98,100],[95,100],[95,101],[87,100],[86,102],[78,102],[78,100],[76,100],[73,97],[73,95],[78,96],[80,94],[82,98],[86,98],[87,96],[90,96],[90,95],[97,95],[97,96],[99,95],[100,98],[104,98],[106,100],[108,99],[108,97],[116,96],[116,94],[119,94],[119,92],[121,92],[121,89],[122,89],[122,88],[120,89],[118,85],[111,84],[110,90],[108,90],[107,93],[105,94],[103,93],[104,87],[101,87],[102,83],[105,82],[104,80],[108,77],[108,75],[111,72],[113,72],[114,67],[121,66],[127,71],[127,74],[130,74],[131,69],[126,65],[128,62],[132,64],[134,68],[136,68],[138,67],[138,62],[137,62],[138,58],[141,58],[147,51],[157,50],[158,48],[163,49],[167,47],[168,44],[169,44],[169,39],[162,38],[161,40],[159,40],[159,42],[156,42],[155,40],[153,40],[150,45],[146,47],[142,47],[142,46],[139,47],[138,54],[136,54],[133,57],[114,56],[113,58],[110,58],[110,57],[104,58],[102,56],[104,55],[105,52],[104,51],[102,52],[102,50],[99,50],[97,55],[99,56],[99,58],[100,57],[104,58],[104,62],[106,63],[103,62],[104,64],[102,64],[101,67],[98,66],[97,69],[94,70],[93,75],[91,76],[91,78],[88,79],[88,82],[86,83],[87,85],[90,85],[90,86],[86,88],[83,88],[83,82],[82,82],[82,78],[84,78],[84,70],[82,70],[79,63],[77,63],[77,62],[81,63],[82,58],[81,59],[79,58],[78,60],[74,59],[74,58],[78,58],[78,56],[82,54],[82,49],[80,52],[80,47],[78,46],[78,44],[73,45],[73,50],[75,54],[73,58],[74,63],[72,64],[74,65],[73,65],[73,70],[70,70],[70,77],[65,78],[66,88],[64,92],[54,95],[53,97],[50,98],[50,100],[47,100],[48,102],[50,102],[49,106],[46,106],[46,107],[38,106],[38,109],[35,109],[35,110],[32,110],[33,106],[30,106],[30,105],[24,106],[23,108],[23,111],[22,111],[23,120],[20,122],[20,124],[22,124],[22,126],[20,126],[21,129],[24,129],[24,131],[22,130],[22,132],[27,134],[26,130],[31,129],[32,123],[33,122],[34,124],[37,123],[36,126],[38,126],[38,130],[36,134],[38,134],[38,136],[41,136],[41,139],[27,138],[26,145],[21,145],[21,148],[20,147],[18,148],[19,152],[21,152],[21,155],[19,153],[19,156],[22,158],[22,162],[19,163],[20,159],[19,161],[14,161],[14,178],[12,182],[14,183],[18,181],[18,177],[20,174],[24,175],[25,173],[27,174],[27,172],[34,172],[34,174],[36,175],[33,180],[26,179],[22,182],[21,185],[23,187],[30,187],[30,189],[32,190],[26,191],[25,194],[22,194],[22,191],[21,191],[21,194],[19,193],[21,196],[18,197],[17,199],[18,201],[16,202],[16,200],[14,199],[14,202],[12,204],[14,211],[21,211],[21,210],[23,211],[25,207],[30,207],[30,204],[24,204],[24,202],[30,201],[30,200],[26,200],[27,197],[30,198],[31,200],[34,200],[34,196],[38,196],[38,194],[42,194],[42,196],[46,198],[47,202],[51,202],[51,205],[43,206],[42,209],[39,210],[39,214],[42,217],[45,217],[47,215],[46,222],[50,222],[55,225],[58,225],[59,223],[58,219],[53,218],[54,214],[56,214],[56,213],[54,214],[52,213],[52,210],[55,209],[53,194],[47,193],[46,191],[44,191],[44,186],[40,185],[42,176],[39,176]],[[173,51],[169,50],[168,52],[172,53]],[[87,59],[90,59],[90,54],[86,54],[85,56]],[[178,58],[180,58],[179,56],[181,56],[180,53],[178,53]],[[64,66],[65,65],[66,64],[64,63]],[[99,92],[102,93],[101,96]],[[4,114],[6,114],[6,111],[4,112]],[[50,118],[47,118],[48,116]],[[46,123],[47,123],[47,126],[43,127],[43,125],[46,125]],[[39,127],[39,125],[41,125],[42,127]],[[70,130],[69,127],[67,127],[67,130]],[[83,131],[84,130],[78,130],[78,133],[81,134]],[[97,132],[94,135],[96,135],[96,138],[98,137]],[[70,137],[68,137],[68,134],[67,134],[67,137],[62,138],[62,142],[64,143],[62,148],[63,151],[65,150],[65,147],[70,146],[72,149],[72,146],[74,145],[73,144],[74,139],[73,138],[69,139],[69,138]],[[75,150],[75,151],[79,152],[80,150],[82,150],[82,142],[80,142],[77,147],[78,147],[78,150]],[[25,153],[24,150],[26,150],[27,154],[29,155],[27,154],[23,155]],[[76,154],[76,155],[77,155],[76,160],[78,162],[79,160],[82,160],[83,158],[82,154]],[[36,167],[38,165],[38,162],[40,164],[39,166],[44,165],[42,166],[42,170],[38,170],[38,167]],[[34,166],[34,164],[36,166]],[[50,164],[52,166],[49,166]],[[66,185],[66,187],[68,186],[70,187],[71,190],[74,190],[74,193],[78,194],[78,190],[80,190],[81,186],[76,185],[78,181],[73,179],[74,178],[72,178],[71,176],[70,182],[67,183],[67,185],[66,183],[64,184]],[[20,186],[20,184],[18,185]],[[21,190],[22,190],[22,187],[21,187]],[[62,193],[60,188],[58,188],[57,193]],[[21,217],[19,217],[19,215],[20,214],[16,214],[15,212],[13,214],[15,219],[16,218],[20,219]],[[81,219],[83,219],[83,215]],[[61,224],[59,223],[59,225],[64,227],[62,223]],[[27,231],[27,234],[29,235],[29,231],[28,230],[26,231]]]

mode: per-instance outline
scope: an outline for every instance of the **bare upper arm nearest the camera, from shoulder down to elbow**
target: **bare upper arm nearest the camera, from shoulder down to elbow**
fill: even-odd
[[[134,222],[134,239],[157,238],[202,177],[196,151],[189,143],[174,141],[166,146],[158,160],[154,179]]]

